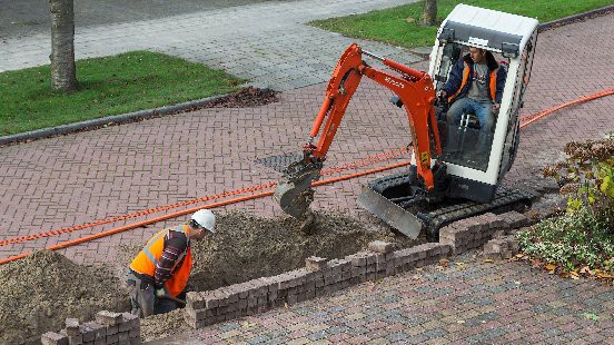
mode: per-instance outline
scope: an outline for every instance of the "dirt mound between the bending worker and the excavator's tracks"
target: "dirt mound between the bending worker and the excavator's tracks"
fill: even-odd
[[[313,235],[304,235],[288,216],[261,218],[229,211],[217,218],[216,234],[192,244],[190,286],[195,290],[278,275],[305,266],[305,258],[311,255],[340,258],[366,248],[374,239],[395,241],[389,233],[369,231],[353,218],[333,213],[316,214]],[[399,240],[400,246],[410,243]]]

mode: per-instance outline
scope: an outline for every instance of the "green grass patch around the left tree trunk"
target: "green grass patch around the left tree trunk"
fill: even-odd
[[[0,136],[231,92],[244,80],[149,51],[77,61],[77,91],[50,87],[50,67],[0,73]]]

